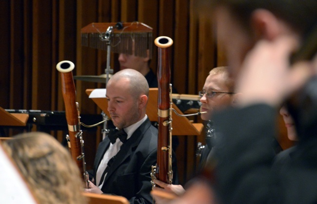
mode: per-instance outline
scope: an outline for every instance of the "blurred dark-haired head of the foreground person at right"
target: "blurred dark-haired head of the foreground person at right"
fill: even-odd
[[[209,8],[205,9],[208,13],[215,14],[218,41],[227,53],[232,76],[238,75],[245,55],[258,40],[293,37],[298,42],[294,49],[298,49],[302,39],[317,26],[316,0],[201,0],[200,3]],[[212,8],[214,12],[210,12]]]

